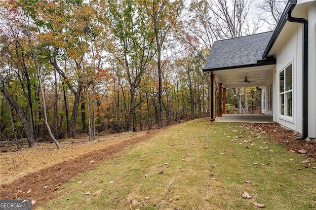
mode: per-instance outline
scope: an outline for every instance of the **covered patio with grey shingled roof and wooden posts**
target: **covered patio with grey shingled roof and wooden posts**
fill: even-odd
[[[219,122],[272,122],[272,82],[276,59],[263,58],[273,32],[215,41],[203,68],[210,80],[210,120]],[[218,83],[218,104],[215,89]],[[261,90],[260,115],[226,115],[226,88]],[[215,116],[218,106],[218,117]],[[269,114],[269,115],[265,115]],[[216,117],[216,118],[215,118]]]

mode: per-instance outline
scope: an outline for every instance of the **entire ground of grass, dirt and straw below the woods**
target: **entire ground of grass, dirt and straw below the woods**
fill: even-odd
[[[94,141],[67,139],[61,150],[40,143],[0,154],[0,199],[32,199],[42,209],[251,209],[238,194],[248,190],[251,201],[270,208],[316,208],[316,144],[295,137],[275,123],[199,119]],[[280,195],[271,197],[271,190]]]

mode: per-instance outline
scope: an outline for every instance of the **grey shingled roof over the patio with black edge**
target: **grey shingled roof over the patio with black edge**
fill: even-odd
[[[272,34],[273,32],[265,32],[215,41],[203,71],[275,64],[274,59],[262,60]]]

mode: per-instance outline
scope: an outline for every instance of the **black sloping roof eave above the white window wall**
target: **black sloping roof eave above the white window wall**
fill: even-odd
[[[266,47],[266,50],[265,52],[263,53],[262,55],[262,58],[267,58],[268,55],[269,55],[269,52],[271,50],[271,48],[273,47],[274,43],[276,42],[276,38],[278,37],[278,35],[281,33],[285,23],[286,23],[286,15],[287,15],[287,12],[289,10],[293,10],[294,7],[296,5],[296,0],[289,0],[285,6],[285,9],[281,15],[281,18],[280,20],[278,21],[277,25],[276,25],[276,29],[274,30],[271,38],[270,38],[270,41]]]

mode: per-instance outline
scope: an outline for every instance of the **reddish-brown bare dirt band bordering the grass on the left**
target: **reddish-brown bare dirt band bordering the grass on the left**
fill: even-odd
[[[75,159],[67,160],[48,168],[43,168],[40,171],[24,175],[9,184],[2,184],[0,199],[32,199],[37,202],[35,204],[36,207],[52,199],[54,197],[53,192],[70,178],[93,169],[96,164],[105,159],[109,159],[113,154],[122,151],[126,146],[146,140],[161,130],[162,129],[157,129],[155,131],[146,132],[144,135],[127,140],[113,141],[111,144],[103,146],[98,144],[99,148],[102,146],[102,149],[92,150],[85,154],[78,155]],[[66,153],[65,149],[60,151]],[[77,150],[75,150],[75,152],[77,152]],[[33,161],[38,162],[41,159],[40,157],[40,159],[37,158]],[[51,160],[53,160],[53,158],[51,158]],[[94,162],[91,163],[91,160]]]

